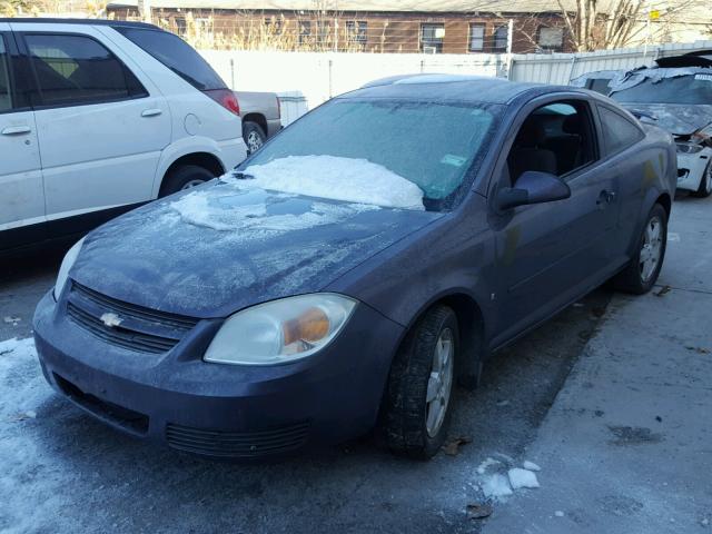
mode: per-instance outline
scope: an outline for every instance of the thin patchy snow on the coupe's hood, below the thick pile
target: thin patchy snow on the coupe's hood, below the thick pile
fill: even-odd
[[[378,209],[365,204],[333,205],[312,204],[303,214],[268,214],[266,204],[240,205],[240,191],[216,192],[211,189],[192,191],[170,204],[184,222],[218,231],[241,231],[243,238],[267,237],[293,230],[330,225],[353,217],[362,211]],[[172,224],[170,220],[167,224]]]

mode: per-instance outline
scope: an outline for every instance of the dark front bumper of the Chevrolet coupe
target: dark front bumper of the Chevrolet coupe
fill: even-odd
[[[105,423],[172,448],[248,459],[374,426],[400,326],[360,304],[318,354],[248,367],[202,362],[220,324],[201,320],[167,353],[142,354],[87,332],[48,294],[33,326],[50,385]]]

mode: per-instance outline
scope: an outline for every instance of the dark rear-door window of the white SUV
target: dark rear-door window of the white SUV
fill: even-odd
[[[96,40],[83,36],[24,36],[41,103],[98,103],[147,96],[134,73]]]

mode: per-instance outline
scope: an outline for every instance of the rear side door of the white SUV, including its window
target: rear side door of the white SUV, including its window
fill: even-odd
[[[149,200],[171,135],[158,89],[92,27],[17,26],[37,82],[48,220],[92,214],[75,218],[80,230],[101,210]]]

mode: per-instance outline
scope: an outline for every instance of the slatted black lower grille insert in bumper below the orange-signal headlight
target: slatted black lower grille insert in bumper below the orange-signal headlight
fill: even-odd
[[[222,432],[168,424],[168,444],[179,451],[222,458],[254,458],[284,454],[301,447],[309,422],[258,432]]]

